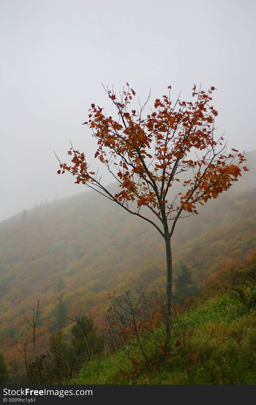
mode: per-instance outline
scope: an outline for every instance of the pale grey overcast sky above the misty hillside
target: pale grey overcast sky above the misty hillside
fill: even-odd
[[[93,155],[81,123],[92,102],[110,105],[101,82],[119,91],[128,81],[141,100],[151,87],[151,102],[169,85],[173,100],[213,85],[229,147],[256,149],[255,4],[2,0],[0,220],[87,190],[57,175],[53,151],[68,162],[71,140]]]

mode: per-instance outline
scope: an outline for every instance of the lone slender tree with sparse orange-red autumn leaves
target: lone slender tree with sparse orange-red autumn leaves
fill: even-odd
[[[127,88],[116,97],[114,90],[104,87],[116,108],[116,117],[91,104],[89,126],[97,139],[95,158],[105,164],[118,181],[120,192],[112,194],[103,184],[98,171],[90,171],[85,153],[71,148],[72,164],[60,163],[57,173],[69,171],[76,176],[75,183],[96,190],[133,215],[148,221],[165,241],[167,286],[165,326],[169,345],[172,259],[171,237],[179,218],[197,214],[196,207],[227,190],[241,176],[244,155],[236,149],[226,154],[223,137],[214,139],[214,118],[217,111],[210,105],[211,87],[207,92],[193,87],[192,101],[172,103],[169,95],[157,98],[150,113],[142,116],[149,101],[137,110],[130,105],[135,92]],[[126,90],[125,90],[126,89]],[[248,170],[243,166],[243,170]],[[185,176],[184,176],[185,175]],[[181,181],[180,192],[172,192],[174,183]],[[137,207],[135,207],[135,203]],[[142,209],[142,207],[145,207]],[[147,211],[148,209],[148,211]],[[148,213],[147,213],[148,212]],[[155,220],[153,219],[155,218]]]

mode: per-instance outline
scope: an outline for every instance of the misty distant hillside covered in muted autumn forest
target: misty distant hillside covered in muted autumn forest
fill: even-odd
[[[246,154],[250,173],[199,215],[180,220],[173,236],[175,278],[182,263],[201,286],[209,277],[240,264],[255,249],[256,153]],[[115,189],[116,185],[110,186]],[[82,189],[81,189],[82,190]],[[61,294],[67,315],[91,314],[104,325],[108,292],[144,286],[165,289],[165,250],[161,236],[138,217],[85,192],[15,215],[0,224],[0,345],[10,369],[20,364],[15,339],[23,344],[26,322],[40,302],[38,354],[45,352]],[[19,305],[21,303],[21,307]],[[71,321],[64,328],[69,336]]]

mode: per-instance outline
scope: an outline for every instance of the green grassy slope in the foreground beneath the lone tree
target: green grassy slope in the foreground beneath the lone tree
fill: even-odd
[[[163,327],[145,339],[151,367],[131,343],[95,358],[65,384],[256,384],[256,311],[231,294],[176,315],[167,355],[163,339]]]

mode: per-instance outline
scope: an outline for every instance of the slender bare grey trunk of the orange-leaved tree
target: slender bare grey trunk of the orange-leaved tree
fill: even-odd
[[[172,258],[171,258],[171,239],[165,235],[165,249],[167,262],[167,284],[166,284],[166,307],[165,307],[165,350],[169,350],[171,337],[171,296],[172,296]]]

